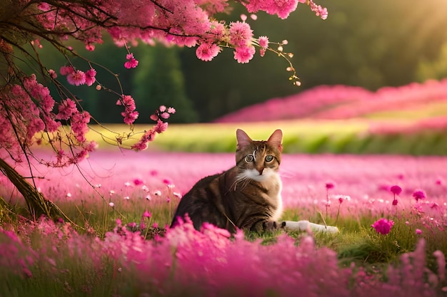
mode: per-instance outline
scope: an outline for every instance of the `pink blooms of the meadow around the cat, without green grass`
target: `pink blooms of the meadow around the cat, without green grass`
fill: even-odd
[[[36,232],[44,239],[31,246],[14,232],[0,228],[3,255],[0,271],[6,269],[24,281],[45,276],[51,282],[55,275],[64,276],[66,261],[74,261],[70,264],[75,267],[73,271],[82,271],[82,265],[89,264],[94,271],[113,274],[113,281],[107,279],[112,277],[107,273],[96,274],[95,280],[108,283],[116,293],[124,294],[129,286],[134,286],[139,292],[155,290],[158,296],[171,296],[179,290],[184,295],[201,296],[263,296],[268,292],[279,296],[296,296],[296,292],[306,296],[359,296],[368,288],[368,296],[396,297],[414,293],[433,296],[436,290],[441,290],[427,281],[436,280],[441,284],[445,272],[441,266],[438,271],[425,269],[424,237],[442,232],[447,226],[446,189],[436,184],[443,172],[443,157],[283,156],[280,174],[284,207],[296,209],[298,219],[315,218],[317,212],[326,208],[326,199],[336,199],[339,207],[329,209],[329,217],[338,216],[337,212],[341,217],[393,216],[396,207],[391,205],[389,189],[397,181],[401,183],[400,207],[408,213],[414,212],[418,218],[405,226],[412,228],[411,234],[421,241],[415,251],[403,254],[401,264],[389,267],[385,282],[355,264],[339,265],[335,251],[318,248],[306,234],[298,240],[281,234],[275,243],[261,245],[259,241],[244,239],[242,232],[228,240],[227,231],[209,224],[196,231],[186,220],[181,226],[166,230],[163,236],[155,236],[154,240],[142,238],[142,228],[149,230],[149,226],[159,228],[169,224],[155,222],[159,215],[157,205],[166,205],[169,199],[175,207],[181,194],[197,180],[228,169],[233,159],[233,154],[99,151],[79,166],[105,201],[86,185],[77,170],[52,171],[36,165],[39,175],[46,178],[36,179],[46,197],[59,204],[76,203],[78,207],[97,204],[94,209],[101,209],[105,204],[116,226],[104,239],[99,239],[78,234],[70,224],[41,219],[21,231],[21,236]],[[18,170],[26,172],[26,167],[19,166]],[[406,178],[398,179],[402,172]],[[337,184],[331,188],[331,194],[326,192],[328,180]],[[14,193],[11,184],[5,177],[0,177],[0,183],[2,197],[11,197]],[[388,187],[382,187],[383,184]],[[413,192],[408,189],[423,189],[427,193],[426,199],[418,201],[417,212]],[[146,198],[148,195],[150,199]],[[21,199],[17,201],[24,203]],[[433,203],[437,207],[432,208]],[[135,207],[141,209],[136,222],[119,215]],[[390,217],[378,219],[371,231],[388,234],[383,236],[386,239],[392,235],[393,221]],[[343,232],[343,224],[338,227]],[[36,240],[39,236],[32,238]],[[53,249],[54,246],[58,249]],[[106,270],[104,257],[113,264]],[[441,264],[445,261],[441,251],[436,257]],[[79,290],[91,290],[95,286],[94,282],[76,285],[73,278],[68,283]]]

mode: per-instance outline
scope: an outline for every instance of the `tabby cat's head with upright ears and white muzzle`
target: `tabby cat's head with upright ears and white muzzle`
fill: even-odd
[[[276,130],[268,140],[251,140],[246,132],[238,129],[236,166],[241,177],[262,182],[276,174],[281,163],[282,138],[281,130]]]

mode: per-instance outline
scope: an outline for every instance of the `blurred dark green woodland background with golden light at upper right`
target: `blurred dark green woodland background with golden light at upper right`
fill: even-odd
[[[447,76],[447,1],[321,0],[318,4],[328,8],[326,21],[304,5],[298,5],[286,20],[263,13],[256,21],[248,18],[255,37],[288,40],[284,51],[294,54],[291,61],[301,87],[288,81],[286,61],[270,52],[263,58],[256,54],[248,64],[238,64],[233,51],[226,49],[213,61],[204,62],[196,58],[195,48],[141,44],[130,49],[139,66],[126,69],[125,49],[111,46],[111,41],[96,46],[93,52],[76,51],[119,73],[124,93],[136,100],[137,123],[151,123],[149,115],[161,104],[178,110],[171,123],[206,123],[317,85],[343,84],[373,91]],[[240,20],[243,9],[234,6],[227,21]],[[40,54],[56,70],[64,63],[49,47]],[[74,63],[88,67],[79,58]],[[113,75],[96,69],[101,83],[119,90]],[[74,89],[71,85],[67,88]],[[121,109],[110,104],[116,100],[110,93],[81,86],[76,94],[100,122],[121,123]]]

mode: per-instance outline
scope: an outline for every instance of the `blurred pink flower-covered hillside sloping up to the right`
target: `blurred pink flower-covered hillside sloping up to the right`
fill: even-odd
[[[447,116],[447,79],[385,87],[370,92],[347,85],[321,85],[285,98],[273,98],[217,119],[216,123],[277,120],[439,120]],[[430,126],[429,123],[426,125]]]

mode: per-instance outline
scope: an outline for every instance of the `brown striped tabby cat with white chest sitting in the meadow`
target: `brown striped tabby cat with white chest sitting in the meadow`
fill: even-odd
[[[276,229],[283,211],[278,174],[282,138],[281,130],[261,141],[236,130],[236,166],[199,180],[180,200],[171,227],[187,214],[197,230],[204,222],[232,234],[236,229]]]

